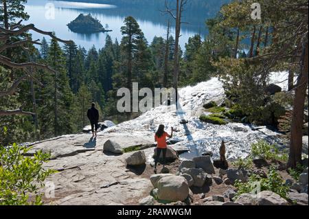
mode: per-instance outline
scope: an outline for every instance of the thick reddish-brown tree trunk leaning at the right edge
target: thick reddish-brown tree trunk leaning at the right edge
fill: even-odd
[[[302,128],[304,121],[304,105],[306,100],[306,90],[308,86],[308,42],[306,42],[306,49],[303,51],[303,68],[299,80],[297,80],[297,87],[295,89],[295,98],[293,104],[293,115],[290,132],[290,153],[288,156],[287,168],[295,168],[297,163],[301,163],[302,151]]]

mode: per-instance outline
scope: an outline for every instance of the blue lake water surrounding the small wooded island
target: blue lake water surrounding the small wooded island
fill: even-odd
[[[207,8],[205,10],[203,8],[197,10],[190,7],[190,5],[187,6],[183,20],[190,24],[183,25],[180,39],[181,47],[184,47],[190,36],[194,36],[194,34],[199,32],[203,36],[207,34],[205,20],[208,17],[214,16],[214,12],[220,9],[220,3],[216,4],[218,7],[216,9],[212,7],[211,12]],[[123,22],[126,16],[133,16],[137,19],[141,30],[144,32],[148,42],[151,43],[154,36],[166,36],[167,21],[170,18],[160,12],[160,10],[164,10],[163,3],[162,5],[156,5],[155,8],[151,8],[145,5],[142,7],[117,5],[117,1],[115,1],[115,5],[108,5],[71,1],[28,0],[25,10],[30,15],[30,19],[24,23],[34,23],[36,27],[42,30],[54,31],[58,37],[73,40],[77,45],[81,45],[85,49],[89,49],[93,45],[97,49],[102,48],[105,43],[106,34],[109,34],[113,41],[116,38],[120,41],[122,38],[120,27],[124,25]],[[76,19],[80,13],[91,14],[104,27],[107,24],[108,29],[113,30],[113,32],[95,34],[71,32],[67,24]],[[174,23],[174,20],[171,19],[171,21]],[[172,34],[174,35],[173,28]],[[43,36],[33,33],[33,38],[41,39]]]

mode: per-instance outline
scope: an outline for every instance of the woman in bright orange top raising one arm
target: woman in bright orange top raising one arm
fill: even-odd
[[[172,138],[174,128],[172,127],[172,133],[168,135],[167,132],[164,131],[164,125],[160,125],[156,134],[155,134],[155,141],[157,142],[157,156],[155,157],[155,174],[157,174],[157,163],[160,158],[160,154],[163,154],[163,168],[165,168],[165,157],[166,151],[168,150],[168,144],[166,143],[166,137]]]

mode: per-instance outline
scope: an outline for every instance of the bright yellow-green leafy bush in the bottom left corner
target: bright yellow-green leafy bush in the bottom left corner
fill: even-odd
[[[34,157],[24,157],[30,148],[18,146],[0,147],[0,205],[41,205],[41,195],[45,178],[54,170],[45,170],[43,163],[50,154],[38,151]],[[35,200],[30,201],[29,195]]]

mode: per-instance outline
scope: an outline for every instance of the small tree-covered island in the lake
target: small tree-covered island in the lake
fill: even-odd
[[[80,14],[74,21],[67,24],[72,32],[80,34],[91,34],[97,32],[111,32],[106,30],[98,19],[95,19],[91,14]]]

